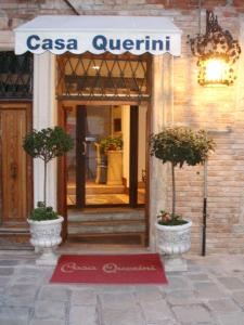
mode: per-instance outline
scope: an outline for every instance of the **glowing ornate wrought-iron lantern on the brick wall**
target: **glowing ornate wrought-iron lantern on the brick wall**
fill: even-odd
[[[241,48],[229,30],[223,30],[213,11],[206,11],[206,32],[190,38],[191,51],[198,57],[198,83],[202,86],[234,82],[233,64],[239,58]]]

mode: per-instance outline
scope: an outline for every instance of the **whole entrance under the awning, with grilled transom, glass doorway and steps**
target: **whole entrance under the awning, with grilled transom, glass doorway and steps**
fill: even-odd
[[[66,53],[56,63],[59,122],[75,140],[59,164],[63,237],[146,245],[151,56]]]

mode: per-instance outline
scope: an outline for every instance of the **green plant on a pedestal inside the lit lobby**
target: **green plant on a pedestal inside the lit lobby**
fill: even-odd
[[[101,152],[107,157],[107,185],[123,184],[123,138],[108,135],[100,142]]]

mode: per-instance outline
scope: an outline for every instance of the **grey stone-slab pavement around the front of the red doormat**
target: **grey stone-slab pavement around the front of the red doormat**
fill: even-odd
[[[1,325],[243,325],[244,257],[188,257],[169,285],[49,284],[33,251],[0,251]]]

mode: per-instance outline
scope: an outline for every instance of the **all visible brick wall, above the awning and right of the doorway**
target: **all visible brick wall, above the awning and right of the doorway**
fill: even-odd
[[[232,87],[203,88],[197,84],[196,60],[187,36],[198,28],[196,0],[73,0],[80,14],[165,15],[183,30],[182,55],[174,60],[174,122],[214,130],[217,148],[208,164],[207,252],[244,252],[244,58],[236,64],[237,80]],[[213,8],[220,25],[243,44],[241,32],[244,1],[202,1]],[[0,28],[11,29],[37,14],[74,14],[65,1],[1,1]],[[203,25],[204,25],[204,11]],[[204,31],[204,30],[202,30]],[[193,220],[192,252],[201,251],[203,167],[177,171],[177,211]],[[168,179],[170,207],[170,179]]]

